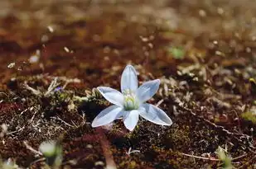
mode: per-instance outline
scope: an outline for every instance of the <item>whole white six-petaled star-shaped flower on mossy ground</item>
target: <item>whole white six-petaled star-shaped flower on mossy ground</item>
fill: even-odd
[[[139,115],[155,124],[171,125],[168,115],[157,106],[145,103],[159,88],[160,80],[145,82],[138,87],[138,78],[132,65],[126,66],[121,77],[121,92],[111,87],[97,87],[106,100],[113,106],[102,110],[92,123],[92,127],[109,124],[123,118],[127,129],[132,131],[138,123]]]

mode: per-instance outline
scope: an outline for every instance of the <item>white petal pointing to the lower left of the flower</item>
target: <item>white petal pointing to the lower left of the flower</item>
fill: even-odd
[[[122,115],[122,110],[123,108],[120,106],[113,105],[107,107],[95,117],[94,121],[92,122],[92,127],[98,127],[111,123]]]

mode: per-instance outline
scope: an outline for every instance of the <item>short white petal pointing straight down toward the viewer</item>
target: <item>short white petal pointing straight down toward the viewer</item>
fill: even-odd
[[[130,110],[130,111],[123,112],[123,114],[126,114],[126,113],[127,113],[127,115],[125,115],[123,117],[123,123],[128,130],[133,131],[136,124],[138,124],[139,111],[138,110]]]

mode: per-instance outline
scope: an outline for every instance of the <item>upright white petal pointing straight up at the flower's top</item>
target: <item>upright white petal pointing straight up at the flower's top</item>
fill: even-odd
[[[136,92],[138,89],[138,77],[135,68],[132,65],[127,65],[121,77],[121,91],[132,90]]]

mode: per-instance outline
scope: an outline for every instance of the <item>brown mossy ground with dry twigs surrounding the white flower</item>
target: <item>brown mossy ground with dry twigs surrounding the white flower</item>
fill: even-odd
[[[220,146],[234,167],[256,168],[255,9],[245,0],[1,1],[0,155],[40,168],[26,145],[60,139],[66,168],[217,168]],[[171,127],[91,128],[109,106],[94,87],[118,89],[127,63],[140,82],[161,78],[150,102]]]

